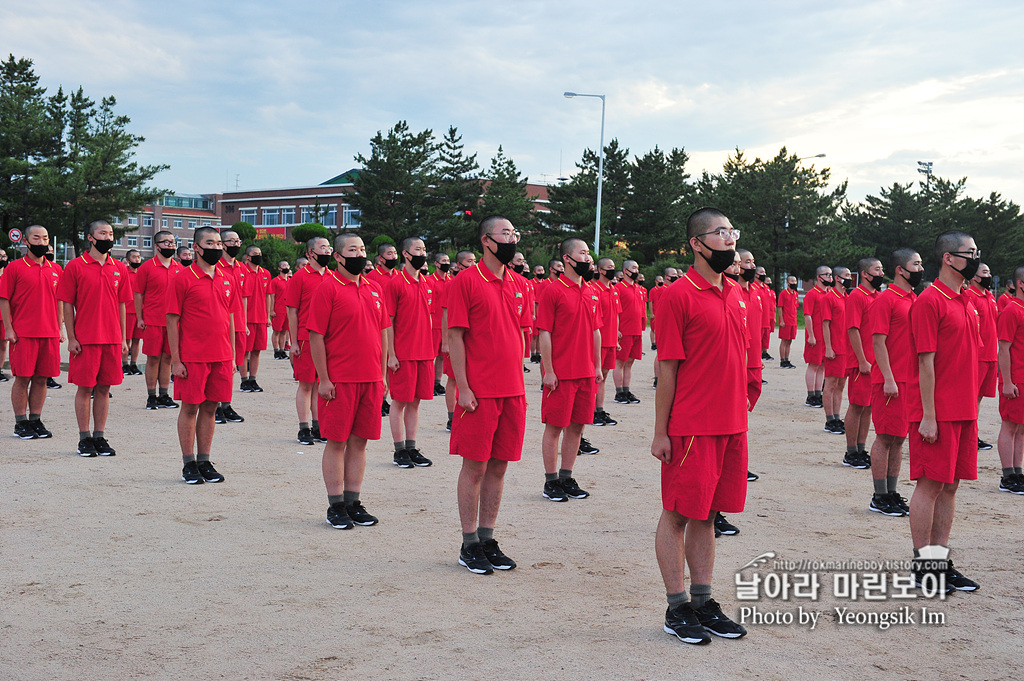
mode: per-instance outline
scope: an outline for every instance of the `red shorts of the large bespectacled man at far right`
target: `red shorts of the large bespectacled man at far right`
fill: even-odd
[[[978,422],[939,421],[939,437],[926,442],[910,424],[910,479],[936,482],[978,479]]]

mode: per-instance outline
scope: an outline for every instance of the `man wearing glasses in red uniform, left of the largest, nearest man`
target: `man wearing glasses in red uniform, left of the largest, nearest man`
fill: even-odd
[[[477,574],[508,570],[515,561],[494,538],[510,461],[522,457],[526,430],[523,328],[531,323],[524,294],[509,275],[519,232],[490,216],[478,227],[482,261],[447,287],[449,344],[458,385],[450,453],[462,457],[459,564]]]

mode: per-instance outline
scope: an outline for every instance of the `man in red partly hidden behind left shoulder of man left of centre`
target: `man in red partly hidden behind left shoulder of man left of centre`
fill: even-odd
[[[309,310],[313,294],[324,283],[327,266],[331,263],[331,242],[313,237],[306,242],[308,262],[300,267],[288,283],[285,304],[288,305],[288,328],[292,333],[292,372],[299,387],[295,391],[295,411],[299,415],[299,444],[324,441],[319,431],[318,401],[314,394],[316,368],[309,354]],[[298,263],[296,263],[298,264]],[[378,287],[380,288],[380,287]],[[312,413],[312,426],[308,421]]]

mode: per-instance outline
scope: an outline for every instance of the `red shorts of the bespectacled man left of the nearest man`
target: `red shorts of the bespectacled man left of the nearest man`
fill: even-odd
[[[526,434],[526,395],[476,401],[475,412],[456,406],[449,454],[470,461],[519,461]]]

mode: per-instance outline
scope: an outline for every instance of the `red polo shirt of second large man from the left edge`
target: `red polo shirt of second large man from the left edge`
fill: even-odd
[[[120,304],[134,304],[127,270],[127,265],[110,256],[99,264],[88,252],[68,263],[57,286],[57,300],[75,306],[79,343],[120,345],[124,340]]]

